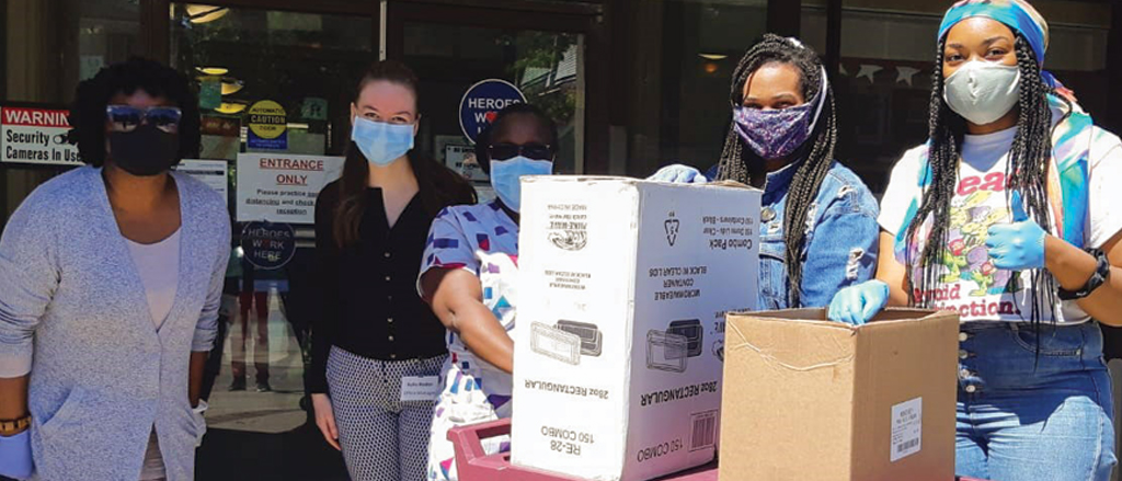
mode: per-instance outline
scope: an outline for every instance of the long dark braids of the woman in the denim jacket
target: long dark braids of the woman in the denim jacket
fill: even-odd
[[[760,67],[769,64],[788,64],[801,73],[800,89],[803,99],[809,102],[817,95],[826,95],[819,121],[811,132],[810,140],[794,154],[794,158],[803,159],[798,166],[791,187],[788,191],[785,216],[783,219],[783,241],[787,250],[785,263],[788,272],[788,300],[791,307],[800,305],[799,295],[802,285],[803,246],[807,239],[807,218],[818,196],[818,189],[826,178],[834,161],[834,147],[837,145],[837,119],[834,113],[834,93],[829,83],[826,91],[819,92],[822,85],[822,62],[809,47],[793,39],[778,35],[765,34],[763,39],[752,46],[741,58],[733,72],[733,85],[729,102],[733,108],[744,103],[744,86],[748,76]],[[735,123],[728,128],[725,136],[725,148],[720,152],[717,168],[718,181],[736,181],[751,184],[753,175],[763,175],[763,159],[751,148],[744,148],[744,141],[736,132]]]

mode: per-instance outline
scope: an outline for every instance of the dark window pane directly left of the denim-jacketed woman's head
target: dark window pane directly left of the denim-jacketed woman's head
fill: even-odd
[[[732,120],[733,71],[765,31],[764,0],[638,2],[632,62],[629,170],[716,165]]]

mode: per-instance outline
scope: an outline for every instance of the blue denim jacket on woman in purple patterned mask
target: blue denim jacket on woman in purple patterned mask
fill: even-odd
[[[807,212],[801,306],[790,306],[783,214],[798,164],[767,174],[760,216],[760,309],[822,307],[844,287],[873,278],[880,226],[876,198],[853,170],[834,161]]]

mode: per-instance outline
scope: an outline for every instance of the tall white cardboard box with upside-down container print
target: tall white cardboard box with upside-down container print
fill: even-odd
[[[760,195],[523,181],[515,464],[635,481],[712,460],[725,314],[757,297]]]

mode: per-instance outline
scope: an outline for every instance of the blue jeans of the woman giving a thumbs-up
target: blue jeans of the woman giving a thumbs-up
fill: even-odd
[[[1109,480],[1118,462],[1114,407],[1098,326],[1045,324],[1037,335],[1028,324],[968,323],[960,331],[957,474]]]

